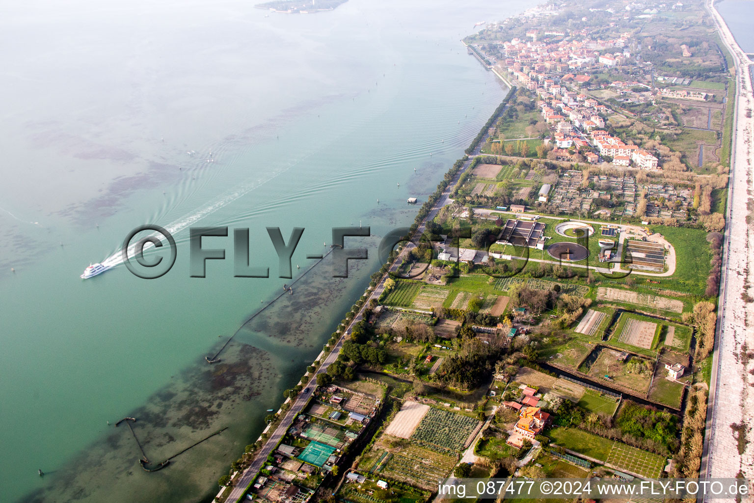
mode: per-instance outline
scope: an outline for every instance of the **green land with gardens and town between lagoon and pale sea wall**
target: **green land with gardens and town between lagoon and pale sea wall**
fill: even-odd
[[[216,500],[750,475],[743,402],[737,471],[709,451],[735,88],[708,13],[555,2],[465,39],[510,94]]]

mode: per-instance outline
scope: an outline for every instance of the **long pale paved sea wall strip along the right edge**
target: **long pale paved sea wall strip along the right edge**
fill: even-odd
[[[712,14],[722,41],[733,56],[737,99],[734,106],[716,347],[713,352],[700,474],[703,477],[736,477],[741,471],[744,477],[750,479],[754,474],[752,443],[744,446],[743,453],[740,454],[731,423],[743,422],[750,425],[754,410],[754,394],[751,391],[754,378],[746,372],[748,359],[740,357],[739,352],[744,345],[754,347],[754,333],[747,321],[751,309],[742,299],[742,293],[750,291],[746,283],[752,281],[750,265],[754,259],[750,246],[751,226],[746,222],[749,191],[754,189],[750,164],[750,159],[754,155],[754,121],[751,117],[746,117],[746,111],[754,108],[750,74],[752,63],[741,51],[713,4],[714,0],[708,0],[706,8]],[[733,82],[728,84],[729,89],[731,85]],[[751,500],[750,496],[744,498],[744,501]]]

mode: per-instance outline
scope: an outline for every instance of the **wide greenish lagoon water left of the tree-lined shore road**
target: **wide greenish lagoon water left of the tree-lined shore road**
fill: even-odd
[[[2,500],[211,498],[366,287],[382,236],[412,222],[406,198],[426,200],[506,94],[460,39],[525,7],[5,5]],[[369,259],[352,261],[349,278],[332,278],[325,259],[244,325],[290,283],[277,278],[265,227],[286,241],[305,228],[296,275],[326,251],[331,228],[360,222],[372,236],[347,244]],[[143,280],[118,265],[79,278],[144,223],[175,231],[167,275]],[[271,277],[233,278],[228,237],[204,239],[227,259],[190,278],[191,225],[250,228],[252,261]],[[130,431],[113,426],[125,416],[151,462],[228,429],[147,473]]]

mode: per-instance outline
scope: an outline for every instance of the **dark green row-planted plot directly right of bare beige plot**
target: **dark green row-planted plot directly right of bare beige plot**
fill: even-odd
[[[463,449],[479,421],[432,407],[421,419],[411,440],[422,446],[452,454]]]

